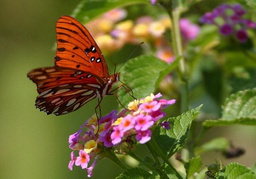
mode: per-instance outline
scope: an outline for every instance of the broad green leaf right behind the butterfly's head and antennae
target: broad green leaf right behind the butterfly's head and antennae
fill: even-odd
[[[132,90],[135,98],[145,98],[154,92],[158,80],[163,79],[173,66],[175,64],[169,65],[153,55],[141,55],[125,63],[121,69],[121,81]],[[126,90],[118,90],[117,96],[124,106],[132,101]]]

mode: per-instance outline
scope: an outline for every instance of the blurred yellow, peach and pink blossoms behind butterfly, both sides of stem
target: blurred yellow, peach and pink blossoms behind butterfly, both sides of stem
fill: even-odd
[[[127,20],[126,15],[124,9],[116,8],[86,24],[102,51],[107,54],[126,44],[138,45],[143,41],[152,44],[151,48],[158,58],[167,63],[173,62],[172,49],[164,37],[164,33],[171,30],[169,16],[160,15],[157,19],[141,16],[133,21]],[[180,28],[185,41],[195,39],[199,33],[199,26],[187,19],[181,19]]]

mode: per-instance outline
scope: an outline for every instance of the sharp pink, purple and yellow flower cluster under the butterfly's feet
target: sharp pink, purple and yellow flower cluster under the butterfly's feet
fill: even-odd
[[[159,120],[166,115],[162,109],[174,104],[175,99],[158,99],[159,97],[162,97],[161,93],[134,100],[119,114],[113,110],[100,120],[96,115],[90,117],[78,132],[69,137],[69,147],[79,151],[77,157],[74,151],[71,152],[69,169],[73,170],[74,164],[81,166],[90,177],[97,161],[107,157],[106,150],[125,155],[133,150],[137,142],[148,142],[154,126],[161,125],[166,130],[170,129],[169,122]],[[91,160],[92,165],[88,167]]]

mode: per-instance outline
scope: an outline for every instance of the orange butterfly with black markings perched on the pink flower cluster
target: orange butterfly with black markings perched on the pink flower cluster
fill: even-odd
[[[109,75],[100,48],[83,24],[63,15],[56,23],[57,52],[53,67],[32,70],[28,78],[37,85],[35,106],[46,114],[73,112],[94,98],[98,105],[108,95],[120,73]],[[95,107],[95,110],[96,108]]]

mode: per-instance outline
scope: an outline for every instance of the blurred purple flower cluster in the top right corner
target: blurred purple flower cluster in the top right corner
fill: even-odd
[[[222,4],[212,12],[205,13],[202,23],[215,24],[223,36],[235,35],[240,42],[246,42],[248,35],[246,30],[256,28],[256,23],[245,19],[246,10],[240,4]]]

